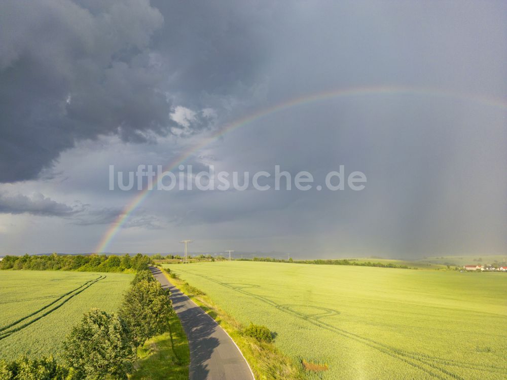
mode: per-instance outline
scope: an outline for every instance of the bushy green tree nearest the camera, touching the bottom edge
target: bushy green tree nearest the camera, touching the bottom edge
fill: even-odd
[[[97,380],[106,375],[126,379],[136,352],[119,316],[92,309],[67,336],[62,356],[80,379]]]

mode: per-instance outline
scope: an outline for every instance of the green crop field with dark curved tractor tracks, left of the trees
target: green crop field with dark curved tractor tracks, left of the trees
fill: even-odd
[[[132,275],[1,271],[0,358],[57,355],[90,308],[115,312]]]

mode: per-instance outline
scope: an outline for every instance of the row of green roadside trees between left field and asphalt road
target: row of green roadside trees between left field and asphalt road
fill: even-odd
[[[148,270],[137,272],[116,314],[92,309],[62,345],[64,364],[54,358],[0,361],[5,380],[126,379],[137,359],[137,347],[167,331],[173,313],[169,291]]]

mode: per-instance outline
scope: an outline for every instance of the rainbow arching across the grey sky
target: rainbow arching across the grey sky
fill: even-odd
[[[482,103],[484,105],[499,107],[502,109],[507,109],[507,101],[505,99],[500,98],[492,98],[483,95],[476,94],[468,94],[457,91],[447,91],[438,88],[431,87],[410,87],[410,86],[369,86],[369,87],[352,87],[352,88],[344,88],[338,90],[324,91],[320,93],[305,95],[297,98],[293,98],[287,100],[285,102],[281,102],[275,104],[268,108],[263,108],[257,112],[251,113],[250,115],[237,119],[227,125],[225,125],[220,130],[214,132],[210,136],[204,138],[199,143],[190,147],[172,162],[170,162],[163,170],[163,172],[174,170],[178,165],[183,164],[189,157],[191,157],[194,153],[202,149],[203,147],[209,145],[213,141],[216,141],[220,137],[224,136],[226,133],[229,133],[235,129],[240,127],[244,127],[254,121],[263,119],[267,116],[272,115],[273,113],[280,112],[286,110],[288,108],[292,108],[295,106],[315,103],[322,100],[334,99],[334,98],[342,98],[342,97],[354,97],[354,96],[367,96],[367,95],[418,95],[418,96],[430,96],[436,98],[447,98],[447,99],[457,99],[464,101],[473,101],[476,103]],[[161,180],[161,178],[156,177],[154,180],[153,188],[156,188],[156,184]],[[148,188],[142,190],[137,194],[123,209],[122,213],[116,218],[116,220],[108,227],[105,234],[100,239],[99,244],[95,248],[94,252],[104,252],[108,245],[113,241],[115,236],[121,230],[122,226],[125,224],[129,216],[142,204],[144,200],[147,199],[150,191]]]

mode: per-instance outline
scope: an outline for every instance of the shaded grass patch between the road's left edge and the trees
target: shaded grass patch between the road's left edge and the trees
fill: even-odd
[[[137,349],[130,380],[188,380],[190,351],[187,336],[176,314],[170,318],[170,331],[149,339]]]

